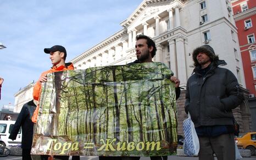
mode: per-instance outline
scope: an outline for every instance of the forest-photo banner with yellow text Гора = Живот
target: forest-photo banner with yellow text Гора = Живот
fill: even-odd
[[[32,155],[164,156],[176,153],[171,71],[160,62],[47,75]]]

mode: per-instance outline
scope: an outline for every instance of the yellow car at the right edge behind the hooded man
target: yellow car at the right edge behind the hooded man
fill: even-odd
[[[255,155],[256,132],[248,132],[241,137],[236,137],[235,142],[238,148],[250,150],[251,155]]]

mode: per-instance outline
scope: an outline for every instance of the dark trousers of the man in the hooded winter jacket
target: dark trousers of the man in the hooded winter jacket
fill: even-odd
[[[199,138],[199,160],[214,160],[215,153],[218,160],[235,160],[235,140],[233,133],[221,134],[217,137]]]

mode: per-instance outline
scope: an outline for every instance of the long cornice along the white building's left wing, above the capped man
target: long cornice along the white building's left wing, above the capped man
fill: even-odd
[[[77,62],[80,62],[81,60],[84,60],[86,57],[94,54],[94,52],[97,52],[98,50],[101,50],[101,49],[105,48],[105,46],[107,46],[109,44],[112,44],[116,40],[122,38],[124,34],[127,34],[126,29],[122,29],[121,31],[113,34],[109,38],[103,40],[101,43],[98,43],[97,45],[93,46],[91,49],[88,49],[87,51],[85,51],[81,55],[75,57],[70,62],[77,63]]]

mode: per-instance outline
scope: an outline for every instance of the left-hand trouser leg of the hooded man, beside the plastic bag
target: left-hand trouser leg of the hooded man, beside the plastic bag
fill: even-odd
[[[199,154],[198,154],[198,159],[199,160],[214,160],[213,157],[213,149],[210,144],[210,138],[209,137],[198,137],[199,139]]]

